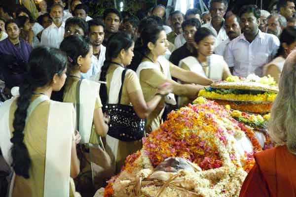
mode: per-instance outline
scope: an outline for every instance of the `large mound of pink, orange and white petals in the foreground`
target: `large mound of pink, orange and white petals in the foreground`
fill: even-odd
[[[253,131],[214,101],[204,99],[172,111],[158,130],[143,139],[143,149],[126,159],[104,197],[238,196],[255,163],[254,151],[262,150],[255,132],[244,130]],[[157,170],[167,158],[184,158],[197,167]]]

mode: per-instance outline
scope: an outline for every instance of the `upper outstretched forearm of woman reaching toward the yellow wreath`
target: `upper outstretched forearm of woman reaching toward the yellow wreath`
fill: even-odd
[[[212,79],[208,79],[207,77],[204,77],[195,72],[182,69],[178,66],[173,65],[172,63],[170,63],[170,71],[173,77],[180,79],[185,83],[194,83],[207,86],[214,82]]]

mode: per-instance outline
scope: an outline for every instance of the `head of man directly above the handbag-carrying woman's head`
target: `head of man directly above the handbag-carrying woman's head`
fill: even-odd
[[[105,23],[105,39],[104,44],[106,45],[109,37],[118,32],[122,16],[120,12],[115,8],[108,8],[103,13],[103,19]]]

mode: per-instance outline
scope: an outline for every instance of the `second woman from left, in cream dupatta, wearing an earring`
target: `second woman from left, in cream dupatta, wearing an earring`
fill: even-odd
[[[106,172],[110,169],[110,158],[103,158],[102,155],[101,159],[108,162],[94,164],[92,149],[89,151],[88,148],[92,145],[100,145],[104,148],[101,137],[105,137],[107,134],[109,119],[102,112],[99,96],[100,84],[80,79],[81,72],[86,73],[90,68],[93,50],[89,39],[70,35],[64,38],[60,49],[66,52],[69,61],[69,74],[64,88],[63,101],[74,104],[77,111],[76,128],[81,135],[80,153],[82,154],[79,157],[81,173],[75,179],[75,184],[77,190],[81,194],[84,193],[82,196],[89,196],[102,186],[104,178],[111,178],[110,173],[99,174],[99,172]]]

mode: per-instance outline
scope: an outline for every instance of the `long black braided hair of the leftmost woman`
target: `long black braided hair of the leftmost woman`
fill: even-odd
[[[15,173],[29,178],[31,158],[24,143],[27,109],[31,103],[33,92],[38,87],[44,87],[52,82],[53,76],[62,75],[67,66],[67,56],[55,48],[37,47],[29,57],[28,73],[20,86],[20,96],[17,99],[17,109],[14,113],[13,136],[10,141],[12,164]]]

